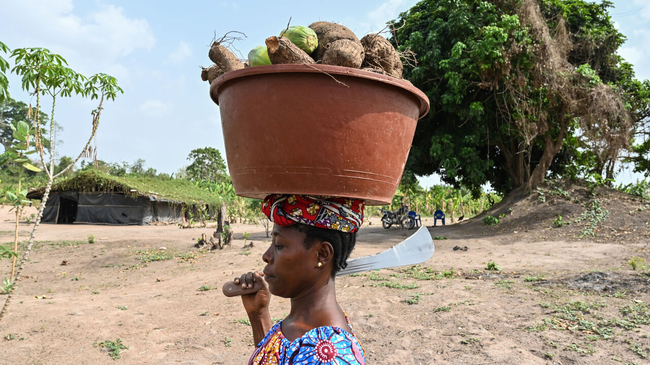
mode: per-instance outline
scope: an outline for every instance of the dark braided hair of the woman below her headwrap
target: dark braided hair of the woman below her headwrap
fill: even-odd
[[[337,231],[335,229],[327,229],[315,227],[313,225],[296,224],[296,229],[300,233],[305,234],[305,240],[302,244],[305,249],[309,249],[317,241],[330,242],[334,249],[333,266],[331,276],[334,277],[339,270],[343,270],[348,266],[348,257],[354,249],[354,244],[357,242],[357,233],[347,233]]]

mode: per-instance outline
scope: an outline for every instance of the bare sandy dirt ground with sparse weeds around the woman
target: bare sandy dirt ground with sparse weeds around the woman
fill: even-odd
[[[424,218],[439,238],[431,260],[337,278],[367,363],[650,363],[650,276],[643,275],[650,273],[650,204],[601,192],[604,214],[584,194],[548,186],[494,226],[479,217],[432,227],[433,218]],[[553,224],[558,213],[571,223]],[[597,236],[580,237],[604,216]],[[0,242],[12,240],[13,225],[0,208]],[[235,223],[232,247],[198,251],[196,238],[210,236],[212,226],[41,225],[0,322],[0,363],[245,364],[253,352],[246,314],[220,288],[263,268],[269,239],[261,226]],[[242,248],[244,233],[252,248]],[[353,256],[404,238],[370,218]],[[171,258],[142,259],[164,254]],[[491,262],[502,270],[487,270]],[[7,260],[0,272],[8,275]],[[287,312],[288,301],[274,297],[272,317]],[[128,348],[113,360],[106,341],[117,339]]]

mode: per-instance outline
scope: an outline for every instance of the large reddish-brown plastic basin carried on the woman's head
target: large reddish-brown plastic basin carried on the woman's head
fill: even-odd
[[[311,194],[390,203],[415,125],[429,110],[408,82],[327,65],[257,66],[210,86],[237,195]]]

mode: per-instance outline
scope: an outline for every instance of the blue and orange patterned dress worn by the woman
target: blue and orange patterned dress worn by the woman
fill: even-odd
[[[350,325],[347,316],[345,320]],[[249,365],[365,365],[363,347],[354,333],[341,327],[317,327],[289,342],[281,324],[271,327],[257,344]]]

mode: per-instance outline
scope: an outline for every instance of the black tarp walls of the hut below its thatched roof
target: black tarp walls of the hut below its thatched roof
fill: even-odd
[[[70,214],[71,201],[76,212]],[[66,207],[66,209],[62,209]],[[62,214],[66,212],[66,217]],[[73,220],[70,219],[73,217]],[[88,223],[110,225],[145,225],[151,222],[182,221],[181,205],[157,201],[148,196],[135,199],[121,193],[53,192],[41,221],[46,223]]]

